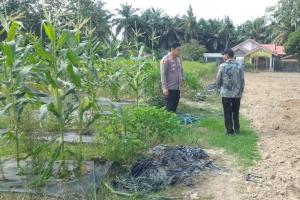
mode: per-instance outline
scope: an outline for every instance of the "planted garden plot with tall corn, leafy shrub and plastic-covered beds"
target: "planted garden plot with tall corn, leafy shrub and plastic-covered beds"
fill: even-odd
[[[1,167],[2,191],[95,195],[85,188],[100,185],[109,163],[89,160],[128,166],[182,134],[178,118],[183,124],[197,121],[161,108],[159,63],[142,56],[144,46],[134,47],[130,57],[102,59],[97,43],[78,27],[67,30],[48,19],[39,38],[23,32],[21,22],[7,20],[0,43],[0,153],[13,159]],[[197,75],[187,77],[184,91],[199,91]]]

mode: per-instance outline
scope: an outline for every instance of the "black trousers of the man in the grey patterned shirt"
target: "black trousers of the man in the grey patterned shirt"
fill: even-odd
[[[241,98],[222,98],[225,127],[227,133],[233,133],[240,130],[240,103]]]

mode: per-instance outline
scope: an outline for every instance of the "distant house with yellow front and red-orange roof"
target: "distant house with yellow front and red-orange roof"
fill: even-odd
[[[237,61],[252,64],[256,70],[298,71],[299,68],[298,60],[287,56],[283,46],[259,44],[248,39],[233,47],[232,50]]]

